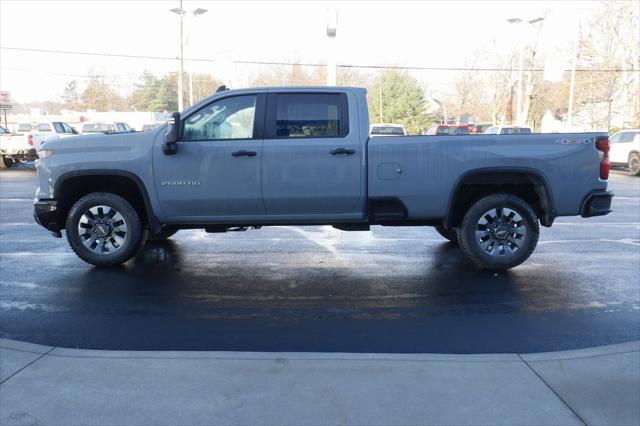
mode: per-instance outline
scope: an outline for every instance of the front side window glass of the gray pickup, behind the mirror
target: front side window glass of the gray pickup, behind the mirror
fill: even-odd
[[[257,96],[234,96],[216,101],[185,120],[184,141],[253,138]]]

